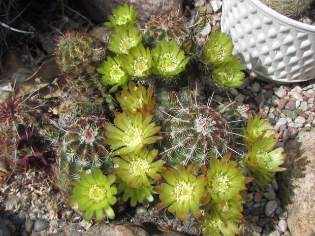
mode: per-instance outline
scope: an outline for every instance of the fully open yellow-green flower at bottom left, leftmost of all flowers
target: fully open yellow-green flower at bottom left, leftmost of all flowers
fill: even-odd
[[[81,180],[72,180],[75,185],[73,195],[69,197],[71,204],[78,204],[79,210],[84,211],[84,220],[88,221],[95,216],[96,220],[102,220],[104,213],[108,218],[114,219],[115,213],[110,205],[116,203],[117,193],[115,185],[111,186],[115,179],[115,175],[106,177],[99,168],[93,171],[93,174],[81,172]]]

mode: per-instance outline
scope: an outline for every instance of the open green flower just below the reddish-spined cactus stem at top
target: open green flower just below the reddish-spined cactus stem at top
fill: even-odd
[[[176,40],[172,40],[169,44],[166,41],[160,41],[151,54],[154,61],[153,73],[166,78],[173,78],[184,71],[190,59],[189,56],[185,57],[183,50],[179,49]]]

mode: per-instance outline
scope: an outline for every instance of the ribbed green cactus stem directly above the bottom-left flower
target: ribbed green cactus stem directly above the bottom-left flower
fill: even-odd
[[[105,143],[104,119],[80,118],[68,127],[57,150],[56,186],[65,196],[71,192],[71,179],[82,171],[101,167],[110,170],[111,152]]]

